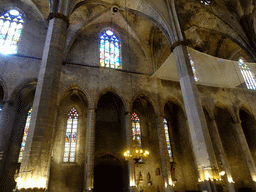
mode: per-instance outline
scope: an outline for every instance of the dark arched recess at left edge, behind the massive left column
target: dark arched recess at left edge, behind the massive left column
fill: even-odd
[[[0,185],[3,191],[12,191],[16,182],[14,181],[14,174],[20,169],[21,162],[18,161],[21,150],[24,130],[26,129],[26,121],[30,108],[33,105],[35,95],[35,84],[31,83],[23,87],[18,93],[12,103],[6,103],[5,107],[12,107],[9,113],[2,117],[6,123],[7,129],[10,129],[10,134],[6,135],[7,153],[4,156],[4,174]],[[9,127],[9,128],[8,128]],[[4,184],[7,183],[7,184]]]

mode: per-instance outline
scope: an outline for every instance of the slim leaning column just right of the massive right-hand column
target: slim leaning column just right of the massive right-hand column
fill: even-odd
[[[232,182],[232,174],[230,171],[230,166],[229,166],[229,162],[227,160],[227,156],[225,154],[225,150],[223,148],[222,145],[222,141],[220,138],[220,134],[219,134],[219,130],[218,130],[218,126],[217,123],[215,121],[215,119],[211,119],[210,120],[210,129],[212,129],[211,134],[212,134],[212,138],[213,138],[213,143],[215,144],[215,146],[217,147],[218,150],[218,154],[220,156],[220,161],[221,161],[221,166],[223,168],[223,170],[225,171],[225,175],[223,177],[225,177],[224,182],[226,182],[225,184],[227,185],[228,191],[229,192],[235,192],[235,186],[234,183]],[[222,170],[220,170],[222,171]]]

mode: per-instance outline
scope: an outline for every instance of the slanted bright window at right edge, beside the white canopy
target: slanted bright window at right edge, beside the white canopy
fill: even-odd
[[[243,75],[247,88],[256,90],[255,75],[251,72],[250,68],[244,63],[243,58],[239,59],[239,68]]]

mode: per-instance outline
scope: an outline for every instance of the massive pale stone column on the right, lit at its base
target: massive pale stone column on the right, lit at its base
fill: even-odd
[[[168,40],[179,74],[195,163],[200,179],[205,181],[201,182],[200,186],[201,190],[211,192],[215,187],[210,187],[207,180],[213,177],[213,170],[216,169],[217,162],[185,46],[186,41],[176,13],[175,2],[174,0],[165,2],[169,12]]]

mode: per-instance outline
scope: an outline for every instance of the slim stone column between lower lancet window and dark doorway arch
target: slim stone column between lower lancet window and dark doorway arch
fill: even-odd
[[[87,134],[87,165],[85,191],[93,191],[94,179],[94,151],[95,151],[95,109],[89,109]]]

